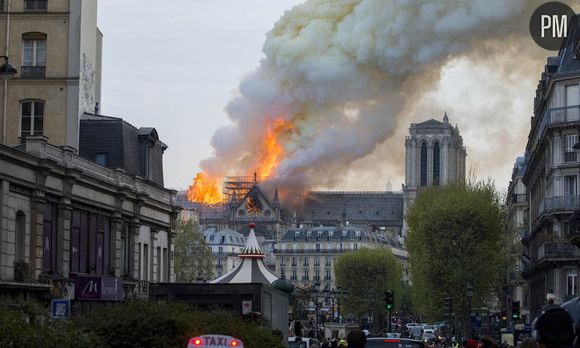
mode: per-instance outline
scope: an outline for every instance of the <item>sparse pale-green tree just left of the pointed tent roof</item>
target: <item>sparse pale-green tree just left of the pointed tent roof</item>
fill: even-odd
[[[177,221],[174,244],[175,278],[177,282],[193,283],[213,276],[210,247],[203,240],[199,225],[192,220]]]

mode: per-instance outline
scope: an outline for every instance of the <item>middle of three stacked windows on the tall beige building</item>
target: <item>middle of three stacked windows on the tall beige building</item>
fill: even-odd
[[[46,34],[22,35],[21,77],[44,78],[46,75]]]

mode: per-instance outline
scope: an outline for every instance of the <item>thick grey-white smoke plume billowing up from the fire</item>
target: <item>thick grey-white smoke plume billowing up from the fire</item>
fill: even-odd
[[[536,6],[524,0],[295,6],[268,33],[265,58],[227,105],[232,124],[216,131],[215,153],[201,167],[211,177],[252,172],[265,135],[282,119],[292,126],[278,138],[283,153],[270,174],[295,191],[332,187],[399,123],[408,127],[401,115],[438,81],[444,64],[517,44],[529,35],[527,18]]]

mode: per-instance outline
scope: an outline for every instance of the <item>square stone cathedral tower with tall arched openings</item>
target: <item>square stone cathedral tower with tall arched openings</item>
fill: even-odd
[[[443,121],[411,123],[405,139],[404,213],[421,187],[465,182],[466,156],[463,138],[457,125],[449,123],[447,113]],[[403,221],[403,236],[406,232],[407,224]]]

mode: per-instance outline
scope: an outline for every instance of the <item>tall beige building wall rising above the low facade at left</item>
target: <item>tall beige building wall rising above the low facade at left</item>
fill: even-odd
[[[97,1],[1,3],[0,38],[8,38],[3,54],[18,74],[0,84],[0,143],[17,145],[29,132],[78,149],[80,117],[100,103]]]

